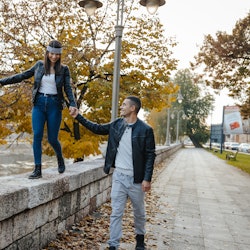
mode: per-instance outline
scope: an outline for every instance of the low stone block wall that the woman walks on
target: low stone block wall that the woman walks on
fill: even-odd
[[[156,164],[180,147],[157,147]],[[45,169],[37,180],[0,177],[0,249],[42,249],[109,200],[112,172],[104,174],[103,164],[103,158],[74,163],[62,175]]]

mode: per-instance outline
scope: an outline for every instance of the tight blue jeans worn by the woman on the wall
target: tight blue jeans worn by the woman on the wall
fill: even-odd
[[[32,109],[33,153],[36,165],[42,163],[42,139],[47,123],[48,142],[56,155],[62,157],[58,133],[62,120],[62,110],[57,96],[38,95]]]

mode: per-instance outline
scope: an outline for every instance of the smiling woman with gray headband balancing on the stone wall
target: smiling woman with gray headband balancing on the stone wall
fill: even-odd
[[[47,123],[48,141],[57,156],[58,172],[65,171],[62,148],[58,141],[64,103],[63,91],[69,100],[70,114],[74,114],[77,109],[70,86],[70,71],[68,66],[61,64],[61,53],[62,44],[53,40],[46,49],[44,61],[38,61],[23,73],[0,79],[1,85],[8,85],[34,76],[32,129],[35,168],[29,179],[42,177],[42,138],[45,123]]]

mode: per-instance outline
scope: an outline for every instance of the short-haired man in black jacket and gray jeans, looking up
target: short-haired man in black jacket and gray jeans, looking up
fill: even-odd
[[[120,107],[122,118],[107,124],[93,123],[79,114],[72,115],[83,126],[100,135],[109,134],[104,172],[114,167],[111,190],[109,249],[119,247],[122,237],[122,216],[127,198],[134,211],[137,250],[145,249],[144,195],[151,188],[155,160],[153,129],[137,115],[141,108],[138,97],[128,96]]]

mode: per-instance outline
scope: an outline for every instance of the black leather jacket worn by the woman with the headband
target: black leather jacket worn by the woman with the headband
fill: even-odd
[[[32,91],[32,102],[34,103],[38,90],[41,86],[41,80],[43,75],[44,75],[43,61],[38,61],[33,67],[20,74],[0,79],[0,84],[8,85],[13,83],[18,83],[34,76],[34,86]],[[55,78],[56,78],[55,80],[56,80],[57,93],[59,100],[61,101],[62,107],[64,103],[63,90],[67,95],[69,106],[76,107],[75,98],[70,86],[70,72],[68,66],[62,65],[60,73],[56,74]]]

